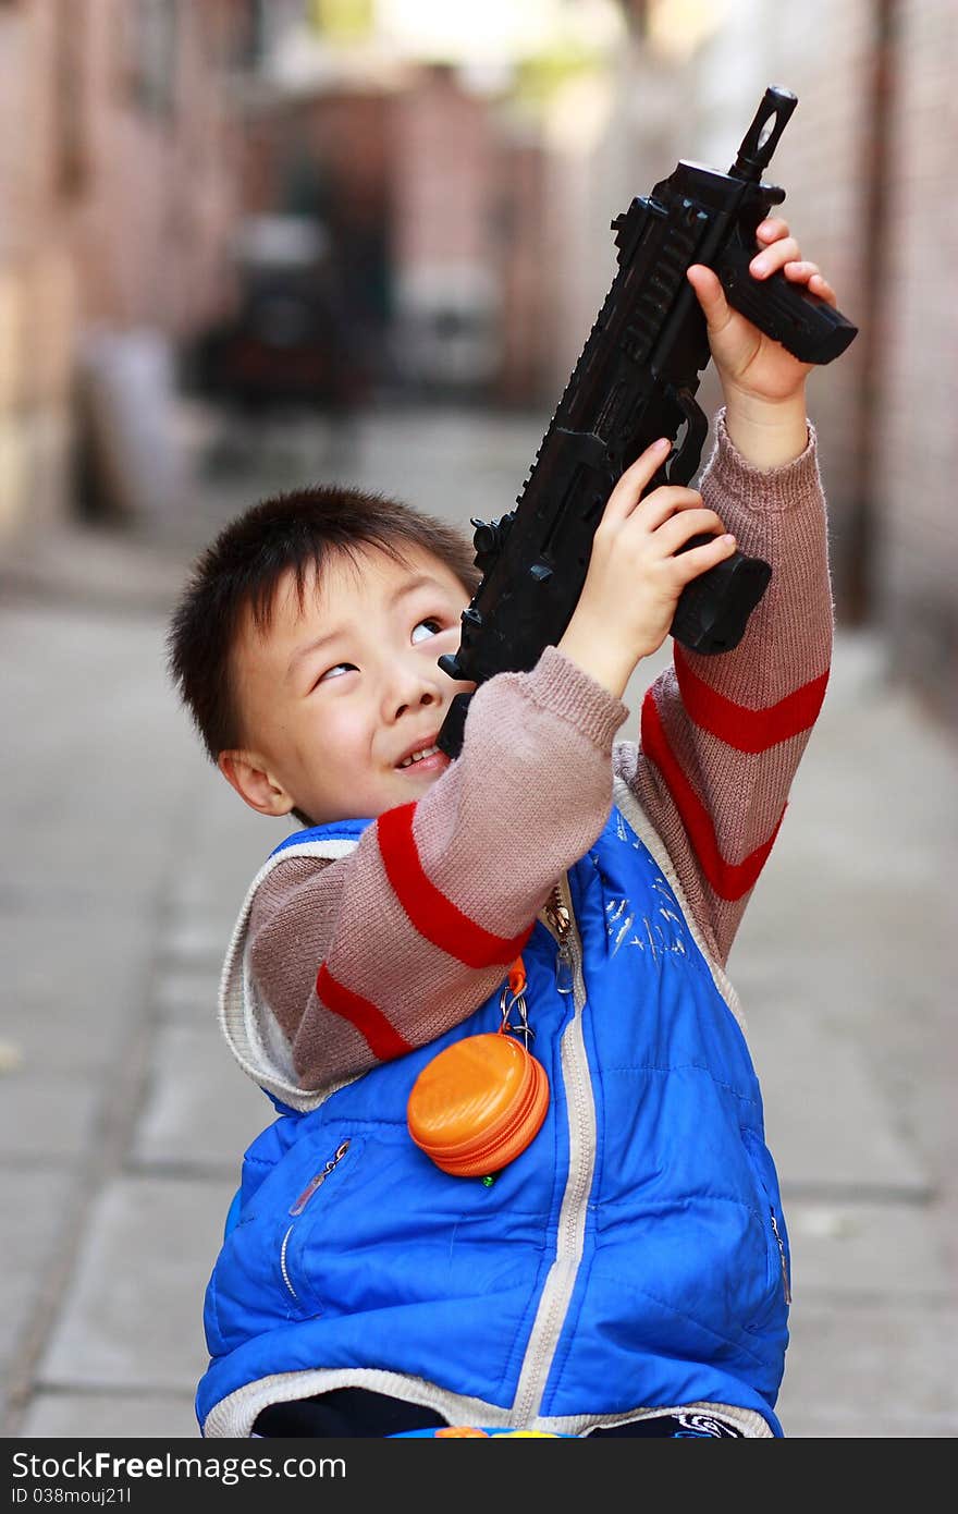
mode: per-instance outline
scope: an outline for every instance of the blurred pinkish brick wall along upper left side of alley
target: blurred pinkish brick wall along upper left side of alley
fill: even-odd
[[[71,382],[91,324],[186,336],[224,303],[236,0],[0,6],[0,536],[71,507]],[[165,32],[165,23],[177,24]],[[166,39],[168,88],[154,68]]]

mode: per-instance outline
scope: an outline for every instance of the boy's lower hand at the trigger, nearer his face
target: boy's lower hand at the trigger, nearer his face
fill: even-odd
[[[695,489],[661,484],[643,497],[669,448],[664,438],[654,442],[611,491],[583,592],[558,642],[566,657],[616,698],[642,659],[664,642],[686,584],[736,550],[736,539],[723,534],[722,521]],[[677,556],[692,536],[702,534],[713,539]]]

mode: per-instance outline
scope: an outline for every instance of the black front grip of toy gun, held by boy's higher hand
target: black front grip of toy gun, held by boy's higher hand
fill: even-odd
[[[782,273],[754,279],[754,256],[746,247],[729,247],[716,263],[728,303],[802,363],[840,357],[858,327],[804,286],[788,283]]]

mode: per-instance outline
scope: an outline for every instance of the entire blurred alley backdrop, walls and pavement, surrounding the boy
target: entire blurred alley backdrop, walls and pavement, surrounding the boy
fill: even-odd
[[[680,157],[728,168],[769,83],[799,106],[767,177],[860,327],[810,386],[835,675],[731,964],[778,1005],[788,1408],[958,1429],[956,64],[943,0],[0,0],[5,1434],[195,1432],[269,1114],[212,1020],[280,836],[165,684],[191,557],[304,480],[510,509],[610,220]]]

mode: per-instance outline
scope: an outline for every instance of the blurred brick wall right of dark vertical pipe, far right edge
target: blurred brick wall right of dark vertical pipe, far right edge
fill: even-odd
[[[896,9],[875,609],[896,668],[958,727],[958,8]]]

